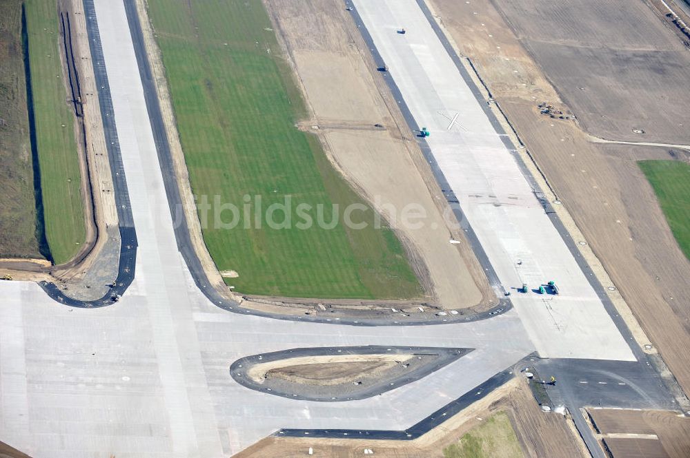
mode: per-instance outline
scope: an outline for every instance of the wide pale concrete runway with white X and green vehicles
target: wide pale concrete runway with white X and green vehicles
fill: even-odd
[[[417,2],[353,3],[540,355],[634,360]],[[531,291],[549,280],[560,294]]]

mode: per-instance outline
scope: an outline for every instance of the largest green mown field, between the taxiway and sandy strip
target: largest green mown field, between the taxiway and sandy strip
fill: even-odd
[[[331,221],[362,199],[328,164],[316,138],[295,128],[305,109],[259,0],[149,0],[194,194],[242,209],[291,196],[321,204]],[[316,220],[315,210],[308,212]],[[362,213],[355,212],[356,219]],[[201,216],[202,226],[204,217]],[[322,298],[408,298],[421,289],[390,229],[235,229],[209,222],[204,240],[243,293]],[[226,220],[230,215],[226,216]],[[373,211],[366,211],[373,221]],[[342,219],[341,219],[342,221]]]

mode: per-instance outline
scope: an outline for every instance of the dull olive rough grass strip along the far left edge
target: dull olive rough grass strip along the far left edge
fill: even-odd
[[[21,0],[0,0],[0,258],[40,258],[21,50]]]

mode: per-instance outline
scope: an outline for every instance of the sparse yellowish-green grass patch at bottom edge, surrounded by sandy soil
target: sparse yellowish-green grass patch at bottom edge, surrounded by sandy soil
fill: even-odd
[[[505,413],[493,417],[443,450],[444,458],[524,458],[511,420]]]

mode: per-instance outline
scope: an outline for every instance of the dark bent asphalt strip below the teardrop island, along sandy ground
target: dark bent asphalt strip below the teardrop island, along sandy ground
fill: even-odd
[[[502,386],[513,378],[513,371],[506,369],[497,373],[486,382],[475,386],[472,390],[446,404],[439,410],[422,421],[414,424],[406,430],[356,430],[356,429],[280,429],[273,433],[273,436],[287,437],[321,437],[330,439],[379,439],[379,440],[403,440],[411,441],[417,439],[433,428],[436,428],[453,415],[467,408],[474,402],[479,401],[491,391]]]

